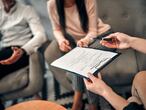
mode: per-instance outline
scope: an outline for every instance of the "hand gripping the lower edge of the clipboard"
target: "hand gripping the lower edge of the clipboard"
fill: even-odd
[[[88,73],[90,80],[84,79],[87,90],[94,92],[95,94],[105,96],[110,90],[110,87],[101,80],[101,75],[98,73],[98,78]]]

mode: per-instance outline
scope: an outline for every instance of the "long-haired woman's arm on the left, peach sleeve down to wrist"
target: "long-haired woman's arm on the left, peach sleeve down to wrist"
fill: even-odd
[[[48,1],[47,5],[48,5],[47,7],[48,7],[49,18],[50,18],[52,28],[53,28],[53,34],[57,42],[59,42],[60,40],[64,39],[64,36],[61,31],[59,17],[56,11],[56,5],[55,5],[55,2],[52,0]]]

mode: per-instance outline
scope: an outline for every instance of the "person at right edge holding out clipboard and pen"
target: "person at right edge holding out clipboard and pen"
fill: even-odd
[[[146,53],[146,40],[131,37],[123,33],[114,33],[107,38],[112,38],[112,42],[101,41],[101,44],[110,48],[133,48]],[[146,109],[146,71],[138,73],[133,81],[132,96],[125,100],[117,95],[102,79],[89,73],[91,81],[84,80],[86,88],[96,94],[103,96],[116,110],[144,110]]]

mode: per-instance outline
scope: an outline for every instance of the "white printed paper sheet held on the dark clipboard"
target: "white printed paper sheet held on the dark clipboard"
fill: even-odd
[[[119,53],[93,48],[76,47],[51,63],[61,68],[88,78],[87,73],[94,74],[114,60]]]

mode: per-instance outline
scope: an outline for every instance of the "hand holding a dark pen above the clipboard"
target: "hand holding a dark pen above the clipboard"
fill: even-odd
[[[108,48],[126,49],[130,47],[130,36],[124,33],[113,33],[107,38],[113,38],[112,42],[102,40],[100,43]]]

